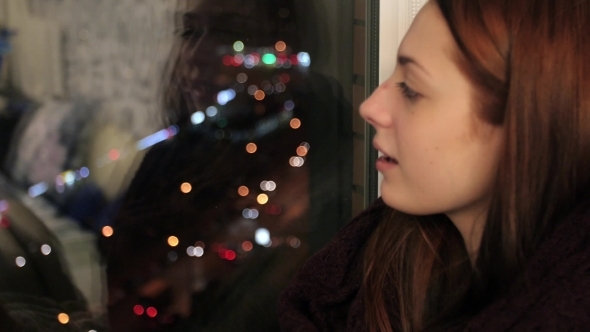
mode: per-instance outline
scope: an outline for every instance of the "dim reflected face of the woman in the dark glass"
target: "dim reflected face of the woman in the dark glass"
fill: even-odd
[[[179,72],[184,97],[194,110],[217,102],[220,91],[229,89],[243,66],[227,62],[228,55],[253,47],[272,46],[265,1],[187,0],[181,6],[182,47]],[[244,61],[244,58],[239,59]],[[249,70],[243,83],[260,75]]]

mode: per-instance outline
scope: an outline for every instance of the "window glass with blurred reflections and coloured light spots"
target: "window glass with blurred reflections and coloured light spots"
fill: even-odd
[[[354,3],[4,2],[0,324],[276,331],[351,213]]]

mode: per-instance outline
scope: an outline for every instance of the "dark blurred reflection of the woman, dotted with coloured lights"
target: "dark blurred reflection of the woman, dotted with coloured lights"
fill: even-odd
[[[311,2],[178,8],[174,138],[146,155],[105,239],[111,330],[276,331],[278,294],[333,235],[310,233],[349,217],[346,105],[311,71]]]

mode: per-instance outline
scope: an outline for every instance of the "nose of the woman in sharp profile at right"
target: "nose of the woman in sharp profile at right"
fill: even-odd
[[[393,124],[393,100],[388,98],[391,93],[386,84],[381,85],[361,104],[359,111],[361,117],[375,129]]]

